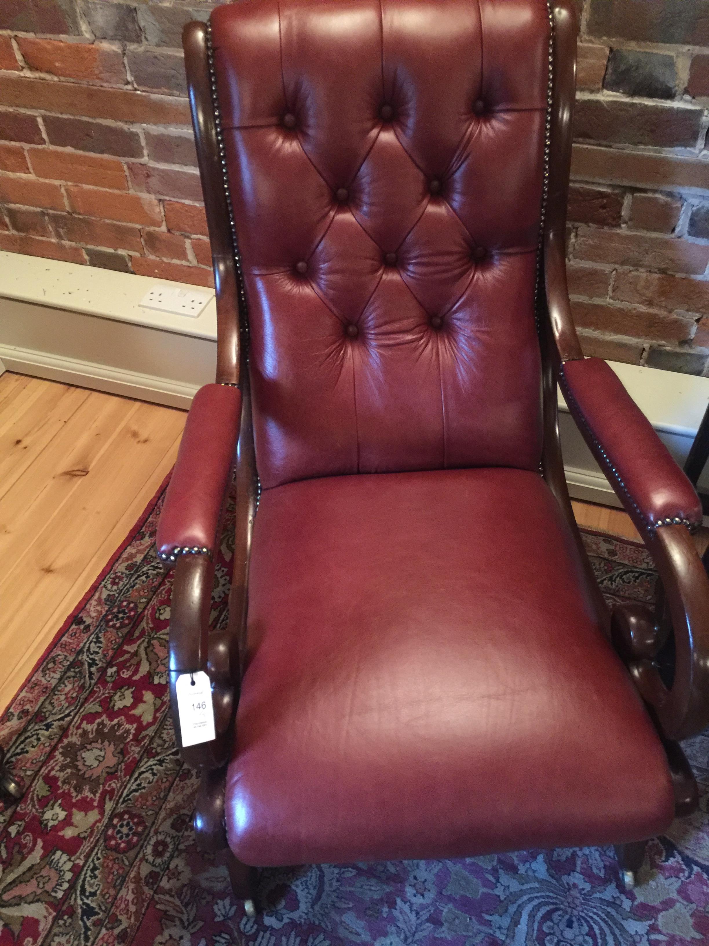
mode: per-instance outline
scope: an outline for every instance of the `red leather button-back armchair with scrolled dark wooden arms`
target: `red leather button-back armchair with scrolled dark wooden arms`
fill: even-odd
[[[264,865],[527,847],[614,843],[630,882],[696,805],[700,505],[574,330],[575,47],[573,0],[251,0],[185,29],[218,365],[158,544],[172,695],[202,671],[215,710],[198,745],[175,714],[199,843],[251,905]],[[593,580],[558,381],[657,562],[655,613],[610,615]]]

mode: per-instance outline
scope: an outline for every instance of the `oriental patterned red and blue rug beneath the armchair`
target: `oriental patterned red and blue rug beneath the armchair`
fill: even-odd
[[[162,495],[0,720],[26,785],[0,811],[0,944],[23,946],[683,946],[709,942],[709,737],[687,746],[698,815],[654,842],[627,893],[612,850],[269,870],[245,917],[218,857],[195,847],[197,781],[167,707],[170,575],[154,551]],[[225,530],[230,535],[230,530]],[[609,599],[647,601],[638,545],[584,535]],[[212,618],[226,619],[229,538]],[[642,773],[638,773],[642,779]]]

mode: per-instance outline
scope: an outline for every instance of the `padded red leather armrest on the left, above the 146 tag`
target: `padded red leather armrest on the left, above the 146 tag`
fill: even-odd
[[[241,419],[241,391],[206,384],[192,401],[158,525],[158,554],[211,554],[232,473]]]

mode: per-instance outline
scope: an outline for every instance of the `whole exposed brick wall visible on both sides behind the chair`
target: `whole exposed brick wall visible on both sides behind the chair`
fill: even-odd
[[[709,8],[578,0],[569,276],[587,354],[709,375]],[[183,24],[0,0],[0,249],[211,282]]]

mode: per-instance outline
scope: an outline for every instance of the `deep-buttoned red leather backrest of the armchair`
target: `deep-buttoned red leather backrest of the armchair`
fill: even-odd
[[[540,462],[545,0],[212,14],[264,487]]]

